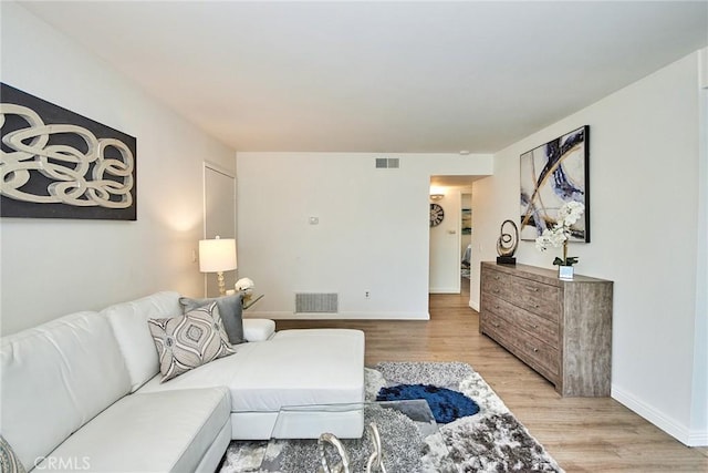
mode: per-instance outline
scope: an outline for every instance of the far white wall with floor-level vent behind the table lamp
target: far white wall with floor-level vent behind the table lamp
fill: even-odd
[[[302,291],[337,292],[339,318],[428,318],[430,175],[489,175],[492,157],[376,157],[238,153],[239,276],[266,294],[248,316],[292,318]]]

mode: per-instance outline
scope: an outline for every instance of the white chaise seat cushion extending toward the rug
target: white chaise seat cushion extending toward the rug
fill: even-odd
[[[283,330],[235,347],[236,354],[158,379],[138,392],[226,385],[232,412],[278,412],[283,405],[364,401],[364,333],[348,329]]]

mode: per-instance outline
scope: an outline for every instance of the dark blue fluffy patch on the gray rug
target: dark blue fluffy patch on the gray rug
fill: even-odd
[[[449,423],[456,419],[475,415],[479,412],[477,402],[447,388],[433,384],[398,384],[384,387],[376,395],[377,401],[402,401],[425,399],[433,411],[437,423]]]

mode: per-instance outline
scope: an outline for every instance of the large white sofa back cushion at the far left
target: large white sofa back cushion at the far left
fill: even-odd
[[[2,338],[2,435],[27,470],[131,390],[108,320],[77,312]]]

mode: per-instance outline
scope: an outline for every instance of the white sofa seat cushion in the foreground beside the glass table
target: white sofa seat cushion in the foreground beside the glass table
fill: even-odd
[[[229,411],[225,388],[134,393],[66,439],[38,471],[51,471],[50,462],[92,472],[199,471],[214,443],[226,450]]]

